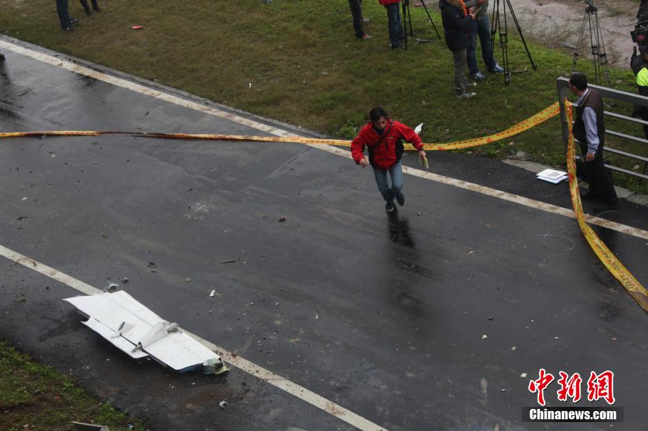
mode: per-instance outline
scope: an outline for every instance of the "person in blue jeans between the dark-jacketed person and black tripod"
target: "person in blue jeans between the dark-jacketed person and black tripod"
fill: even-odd
[[[492,55],[493,41],[491,37],[490,23],[488,21],[488,0],[467,0],[465,3],[468,9],[479,8],[477,19],[472,21],[469,26],[470,34],[466,60],[470,76],[472,76],[476,81],[481,81],[486,76],[484,76],[482,72],[479,72],[479,67],[477,66],[477,56],[475,54],[477,48],[477,36],[479,36],[479,43],[481,45],[481,58],[483,59],[488,71],[491,73],[502,73],[504,72],[504,69],[498,65]]]

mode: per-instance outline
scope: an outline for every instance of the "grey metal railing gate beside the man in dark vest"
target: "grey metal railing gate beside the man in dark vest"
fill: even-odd
[[[567,151],[567,143],[569,142],[569,123],[567,123],[567,113],[565,112],[565,104],[563,103],[563,101],[565,101],[567,96],[571,94],[571,92],[569,91],[569,78],[560,76],[560,78],[558,78],[556,83],[558,86],[558,101],[560,101],[560,123],[563,126],[563,143],[565,144],[565,151]],[[640,96],[638,94],[622,92],[619,90],[614,90],[613,88],[599,87],[598,85],[589,84],[588,87],[595,88],[596,90],[598,90],[598,92],[601,94],[601,96],[603,96],[603,98],[612,99],[614,101],[633,103],[633,104],[636,103],[638,105],[643,105],[645,107],[648,107],[648,97]],[[576,103],[574,103],[574,106],[576,106]],[[624,121],[629,121],[630,123],[637,123],[640,125],[648,126],[648,121],[644,121],[639,118],[632,118],[630,116],[616,114],[616,112],[608,112],[608,111],[605,111],[604,114],[605,116],[608,116],[610,118],[616,118],[618,120],[624,120]],[[606,125],[605,133],[609,136],[615,136],[616,138],[632,140],[634,142],[638,142],[642,144],[648,144],[648,140],[645,138],[639,138],[638,136],[632,136],[622,132],[615,132],[614,130],[607,129],[607,125]],[[576,142],[578,142],[578,140],[576,140]],[[646,148],[648,150],[648,147]],[[617,154],[618,156],[624,156],[634,160],[638,160],[639,162],[643,162],[644,167],[641,174],[638,172],[629,171],[628,169],[623,169],[618,166],[605,165],[605,167],[611,169],[612,171],[619,172],[620,174],[626,174],[626,175],[640,178],[641,181],[648,180],[648,175],[646,174],[646,171],[648,170],[648,157],[639,156],[638,154],[631,154],[628,153],[627,151],[621,151],[620,149],[610,148],[607,145],[603,147],[603,151],[607,151],[608,153],[611,154]]]

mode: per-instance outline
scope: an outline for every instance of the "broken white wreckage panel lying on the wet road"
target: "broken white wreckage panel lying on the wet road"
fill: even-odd
[[[201,369],[219,374],[219,355],[183,333],[124,291],[63,299],[88,317],[83,322],[133,358],[150,356],[180,372]]]

